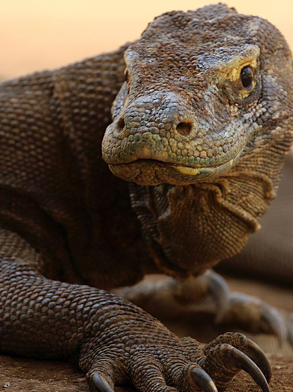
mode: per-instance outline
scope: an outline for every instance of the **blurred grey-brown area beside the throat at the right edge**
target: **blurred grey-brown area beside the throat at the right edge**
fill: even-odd
[[[244,249],[217,266],[219,271],[293,286],[293,150],[286,156],[278,197]]]

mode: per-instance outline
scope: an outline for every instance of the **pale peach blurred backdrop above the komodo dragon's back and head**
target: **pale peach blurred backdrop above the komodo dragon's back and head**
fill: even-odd
[[[218,2],[0,0],[0,80],[111,51],[139,38],[155,16]],[[293,48],[293,0],[227,0],[226,4],[268,19]]]

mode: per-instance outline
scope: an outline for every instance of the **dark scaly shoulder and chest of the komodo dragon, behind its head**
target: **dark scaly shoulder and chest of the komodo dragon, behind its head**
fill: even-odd
[[[9,125],[8,132],[12,133],[6,133],[2,143],[2,157],[5,159],[10,149],[9,154],[14,156],[12,167],[6,169],[5,162],[2,165],[2,218],[34,247],[43,246],[41,252],[49,249],[48,258],[61,261],[58,268],[52,268],[52,274],[42,271],[46,276],[66,281],[79,279],[78,283],[86,281],[102,289],[131,285],[142,276],[137,263],[142,255],[135,254],[139,246],[133,248],[131,256],[129,240],[131,244],[135,241],[139,223],[130,206],[127,183],[109,173],[99,147],[104,129],[111,122],[111,103],[121,79],[124,80],[124,50],[2,85],[5,113],[11,116],[10,113],[21,112],[15,114],[17,123],[13,129]],[[97,85],[102,81],[103,85],[92,89],[92,79]],[[80,91],[68,100],[73,85]],[[36,106],[39,113],[34,114]],[[4,118],[4,132],[6,122]],[[22,144],[22,151],[17,144],[10,143],[16,132],[16,143]],[[33,144],[35,140],[37,145]],[[85,146],[79,147],[83,143]],[[92,148],[93,145],[96,147]],[[81,154],[75,153],[78,149],[83,150]],[[101,198],[96,198],[100,187]],[[25,195],[23,189],[27,190]],[[126,219],[128,234],[120,230]],[[90,270],[93,258],[101,260],[97,274]],[[71,261],[74,265],[70,266]],[[127,264],[134,277],[126,272]],[[114,270],[116,277],[112,275]]]

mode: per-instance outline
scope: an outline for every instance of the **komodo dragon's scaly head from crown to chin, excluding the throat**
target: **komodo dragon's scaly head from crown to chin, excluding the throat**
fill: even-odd
[[[286,41],[222,4],[156,18],[125,62],[102,153],[141,185],[214,180],[284,134],[277,119],[292,114]]]

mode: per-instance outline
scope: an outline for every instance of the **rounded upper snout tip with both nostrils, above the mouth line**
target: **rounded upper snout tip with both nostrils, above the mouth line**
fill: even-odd
[[[179,163],[189,153],[194,108],[186,97],[169,91],[164,96],[136,99],[124,107],[106,130],[102,151],[109,164],[154,159]],[[192,164],[192,163],[191,163]]]

